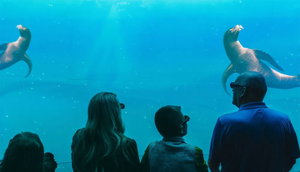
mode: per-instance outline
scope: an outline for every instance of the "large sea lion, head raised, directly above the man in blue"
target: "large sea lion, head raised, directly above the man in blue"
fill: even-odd
[[[276,69],[283,71],[268,53],[243,47],[237,40],[241,29],[244,28],[241,25],[236,25],[228,29],[223,36],[225,52],[231,61],[222,75],[222,86],[228,95],[230,95],[226,89],[228,77],[233,73],[241,74],[244,71],[256,71],[261,73],[265,77],[267,86],[270,88],[291,89],[300,87],[300,74],[297,76],[281,74],[261,61],[265,60]]]

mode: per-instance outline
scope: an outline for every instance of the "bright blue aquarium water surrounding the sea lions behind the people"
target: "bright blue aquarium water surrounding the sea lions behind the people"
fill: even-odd
[[[237,110],[220,82],[230,63],[223,33],[237,24],[244,47],[268,52],[285,74],[300,73],[299,0],[1,0],[1,44],[16,41],[19,24],[32,32],[33,70],[24,78],[28,67],[18,62],[0,72],[1,156],[15,134],[31,131],[57,162],[69,162],[90,98],[110,91],[126,105],[125,134],[140,155],[161,139],[155,111],[172,104],[190,116],[185,139],[207,160],[217,118]],[[299,139],[300,89],[269,88],[265,102],[290,117]]]

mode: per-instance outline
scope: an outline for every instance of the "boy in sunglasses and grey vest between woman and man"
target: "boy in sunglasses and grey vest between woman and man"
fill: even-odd
[[[163,140],[151,142],[141,160],[141,172],[208,172],[202,149],[185,143],[189,116],[180,106],[161,107],[154,116]]]

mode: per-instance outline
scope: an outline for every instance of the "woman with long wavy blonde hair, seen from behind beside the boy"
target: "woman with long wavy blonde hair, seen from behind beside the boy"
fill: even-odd
[[[71,145],[74,172],[135,172],[139,170],[137,143],[124,135],[116,94],[101,92],[88,104],[85,128],[76,131]]]

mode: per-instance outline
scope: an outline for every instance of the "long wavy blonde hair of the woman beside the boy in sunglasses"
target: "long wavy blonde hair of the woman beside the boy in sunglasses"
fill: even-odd
[[[82,172],[104,171],[104,162],[111,159],[118,167],[117,153],[122,151],[129,160],[130,155],[126,151],[125,126],[122,122],[121,107],[116,94],[101,92],[94,95],[88,104],[88,120],[85,129],[77,134],[78,146],[74,149],[74,155],[81,162],[74,164],[76,169]],[[88,170],[92,169],[92,171]]]

